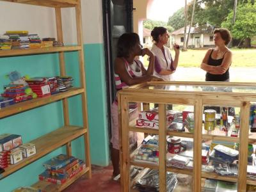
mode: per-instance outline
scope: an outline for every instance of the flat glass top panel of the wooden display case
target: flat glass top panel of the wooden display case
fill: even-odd
[[[256,86],[219,86],[193,84],[145,84],[144,90],[168,90],[178,92],[228,92],[228,93],[256,93]]]

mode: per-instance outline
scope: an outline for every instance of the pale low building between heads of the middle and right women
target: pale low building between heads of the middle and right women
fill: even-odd
[[[186,33],[188,36],[189,26],[187,26]],[[214,46],[213,40],[214,27],[205,24],[204,26],[191,27],[188,48],[200,48],[200,47],[212,47]],[[184,42],[184,28],[180,28],[177,31],[173,31],[171,44],[178,44],[183,47]]]

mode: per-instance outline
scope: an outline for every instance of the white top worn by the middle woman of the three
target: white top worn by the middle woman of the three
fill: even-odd
[[[161,77],[164,81],[173,81],[174,79],[172,74],[166,75],[166,76],[158,74],[158,72],[160,72],[160,68],[166,69],[166,70],[173,70],[172,68],[173,60],[172,60],[172,55],[170,50],[167,47],[164,47],[164,54],[163,54],[163,51],[159,47],[157,47],[157,45],[153,44],[151,51],[154,53],[156,57],[154,75]]]

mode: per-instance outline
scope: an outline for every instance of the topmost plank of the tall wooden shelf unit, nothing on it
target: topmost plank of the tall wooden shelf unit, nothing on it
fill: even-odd
[[[22,3],[22,4],[32,4],[38,6],[47,6],[47,7],[74,7],[79,4],[78,0],[1,0],[7,1],[10,3]]]

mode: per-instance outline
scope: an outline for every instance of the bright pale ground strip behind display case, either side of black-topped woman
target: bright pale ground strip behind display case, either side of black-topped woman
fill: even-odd
[[[256,67],[231,67],[230,81],[256,83]],[[176,81],[205,81],[205,71],[199,67],[178,67]]]

